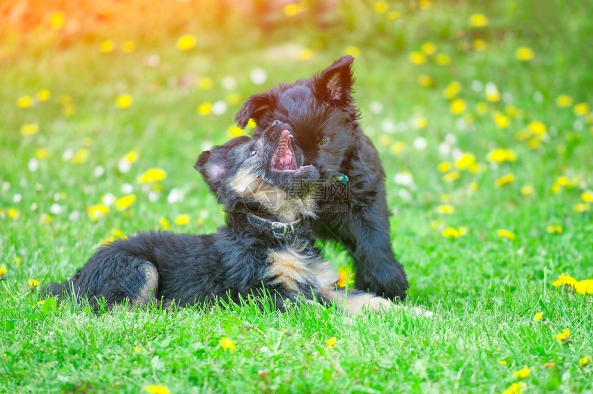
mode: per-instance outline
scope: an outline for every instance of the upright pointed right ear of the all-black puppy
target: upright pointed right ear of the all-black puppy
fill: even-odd
[[[354,77],[350,65],[353,61],[350,55],[342,56],[314,79],[316,94],[321,100],[339,105],[352,103]]]

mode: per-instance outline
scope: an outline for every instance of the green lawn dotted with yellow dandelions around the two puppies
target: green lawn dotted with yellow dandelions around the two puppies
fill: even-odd
[[[0,6],[0,392],[592,393],[593,3],[212,4]],[[432,318],[39,293],[114,238],[216,231],[199,153],[345,53]]]

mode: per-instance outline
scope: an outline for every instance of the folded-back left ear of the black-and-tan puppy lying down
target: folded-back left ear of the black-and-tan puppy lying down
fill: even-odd
[[[229,170],[232,163],[234,163],[231,157],[231,149],[250,141],[247,136],[240,136],[232,138],[224,145],[212,147],[210,150],[206,150],[198,156],[198,161],[194,168],[201,172],[202,176],[210,190],[216,192],[221,185],[224,174]]]

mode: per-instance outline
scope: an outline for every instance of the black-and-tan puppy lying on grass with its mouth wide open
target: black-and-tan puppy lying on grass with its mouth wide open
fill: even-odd
[[[196,168],[226,211],[225,227],[210,235],[139,233],[101,247],[54,295],[87,297],[97,308],[152,300],[184,306],[269,291],[285,302],[336,303],[348,313],[390,309],[372,293],[336,289],[337,276],[313,247],[301,220],[314,216],[317,169],[303,166],[288,125],[274,122],[259,138],[234,138],[200,154]]]

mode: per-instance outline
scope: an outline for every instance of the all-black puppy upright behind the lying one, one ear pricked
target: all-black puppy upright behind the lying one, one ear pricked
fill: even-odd
[[[254,119],[255,137],[277,119],[288,123],[305,163],[319,169],[328,190],[339,178],[347,179],[348,196],[326,193],[318,201],[318,217],[311,224],[314,234],[342,242],[350,251],[357,288],[403,300],[408,280],[390,245],[385,172],[358,122],[351,94],[352,61],[352,56],[343,56],[310,79],[281,83],[250,96],[235,121],[245,127]],[[341,209],[344,206],[347,211]]]

